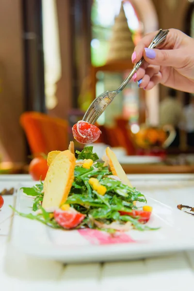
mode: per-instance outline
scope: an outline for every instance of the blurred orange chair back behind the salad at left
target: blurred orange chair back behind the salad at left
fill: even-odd
[[[20,116],[20,124],[33,155],[68,148],[67,121],[44,113],[25,112]]]

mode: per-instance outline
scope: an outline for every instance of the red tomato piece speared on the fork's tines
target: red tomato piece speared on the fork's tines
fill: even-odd
[[[91,144],[97,141],[101,131],[93,124],[78,121],[72,128],[73,136],[80,144]]]

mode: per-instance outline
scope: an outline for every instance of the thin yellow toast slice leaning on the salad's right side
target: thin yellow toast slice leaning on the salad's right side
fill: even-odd
[[[118,159],[115,153],[110,149],[110,147],[106,148],[106,155],[109,158],[109,165],[110,165],[113,175],[120,178],[124,184],[132,188],[132,185],[129,179],[127,178],[127,175],[125,174],[125,171],[123,170],[122,166],[118,162]]]

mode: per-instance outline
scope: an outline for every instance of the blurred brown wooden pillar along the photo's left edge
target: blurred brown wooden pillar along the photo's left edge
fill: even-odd
[[[24,110],[21,0],[0,0],[0,155],[22,162],[25,142],[19,125]]]

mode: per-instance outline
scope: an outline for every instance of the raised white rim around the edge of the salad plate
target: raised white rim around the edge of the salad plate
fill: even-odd
[[[24,181],[26,183],[26,181]],[[18,186],[18,190],[17,190],[17,194],[16,194],[16,201],[15,201],[15,208],[16,210],[19,210],[19,197],[21,197],[21,195],[23,195],[22,190],[20,190],[19,188],[22,186],[22,184],[20,186]],[[147,196],[147,195],[146,195]],[[147,196],[149,197],[149,196]],[[162,204],[163,206],[165,206],[168,209],[173,210],[173,212],[176,210],[177,213],[179,213],[179,215],[185,216],[187,215],[186,213],[183,213],[182,211],[177,211],[177,209],[173,209],[171,206],[166,205],[165,203],[160,202],[157,199],[154,199],[152,197],[149,197],[149,199],[155,201],[156,203]],[[190,217],[188,215],[188,217]],[[65,263],[70,263],[70,262],[99,262],[102,261],[102,259],[99,259],[99,253],[98,250],[100,249],[101,255],[105,256],[105,259],[103,261],[113,261],[113,260],[123,260],[123,259],[144,259],[144,258],[149,258],[149,257],[153,257],[153,256],[160,256],[166,253],[175,253],[175,252],[179,252],[179,251],[190,251],[190,250],[194,250],[194,240],[191,239],[189,240],[188,238],[182,242],[181,244],[178,242],[165,242],[162,241],[157,242],[157,244],[142,244],[141,242],[139,243],[141,245],[141,249],[137,249],[134,248],[133,243],[116,243],[116,244],[108,244],[108,245],[84,245],[84,246],[75,246],[72,249],[68,249],[68,253],[65,253],[64,256],[64,252],[63,254],[61,253],[61,248],[60,246],[57,246],[57,248],[42,248],[41,250],[42,252],[39,252],[37,254],[37,250],[34,249],[29,249],[26,245],[20,245],[18,244],[19,240],[16,240],[15,237],[13,237],[13,232],[14,232],[14,226],[16,223],[16,219],[26,219],[24,217],[20,217],[18,216],[16,213],[15,215],[13,215],[13,222],[11,224],[11,229],[10,229],[10,239],[9,239],[9,243],[12,244],[12,246],[14,246],[15,248],[17,248],[18,250],[22,251],[23,253],[25,253],[26,255],[29,256],[33,256],[33,257],[37,257],[37,258],[42,258],[42,259],[54,259],[57,261],[62,261]],[[191,219],[189,219],[191,221]],[[28,221],[28,219],[26,219],[26,221]],[[34,223],[38,223],[36,221],[34,221]],[[42,225],[42,227],[49,227],[49,226],[45,226]],[[16,236],[16,235],[15,235]],[[137,242],[138,243],[138,242]],[[135,243],[136,244],[136,243]],[[137,245],[137,244],[136,244]],[[121,247],[122,246],[122,247]],[[62,246],[63,250],[64,250],[65,246]],[[150,252],[150,247],[152,248],[151,252]],[[48,253],[50,252],[50,249],[52,249],[52,254],[50,256],[48,256]],[[107,252],[107,249],[109,250],[109,252]],[[78,253],[79,251],[81,251],[81,255],[80,253]],[[130,252],[129,252],[130,251]],[[131,253],[131,251],[133,253]],[[106,252],[106,253],[105,253]],[[149,254],[147,254],[147,252]],[[93,253],[92,257],[91,257],[91,253]],[[74,256],[72,256],[74,255]],[[74,257],[74,258],[73,258]],[[75,259],[75,257],[77,257],[77,259]]]

